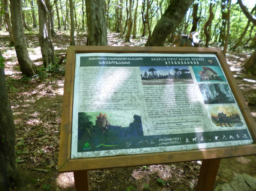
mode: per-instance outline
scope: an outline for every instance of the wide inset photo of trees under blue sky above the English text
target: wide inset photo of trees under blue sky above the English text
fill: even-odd
[[[188,66],[140,67],[142,85],[194,83]]]

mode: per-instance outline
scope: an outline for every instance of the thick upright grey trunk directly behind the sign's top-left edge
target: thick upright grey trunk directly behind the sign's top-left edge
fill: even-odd
[[[105,0],[85,1],[89,46],[107,46]]]

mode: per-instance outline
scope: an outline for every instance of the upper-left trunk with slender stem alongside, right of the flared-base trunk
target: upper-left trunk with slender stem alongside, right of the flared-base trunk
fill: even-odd
[[[39,18],[39,44],[43,57],[43,65],[45,68],[47,68],[50,63],[54,63],[54,49],[51,49],[49,37],[49,34],[51,34],[51,30],[49,30],[49,23],[51,22],[50,20],[47,20],[47,11],[45,10],[47,7],[45,7],[44,4],[44,0],[37,0]]]

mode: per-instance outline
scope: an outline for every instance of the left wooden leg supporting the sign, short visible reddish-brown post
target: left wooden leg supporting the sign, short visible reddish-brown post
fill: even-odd
[[[87,170],[74,171],[76,191],[89,191],[89,177]]]

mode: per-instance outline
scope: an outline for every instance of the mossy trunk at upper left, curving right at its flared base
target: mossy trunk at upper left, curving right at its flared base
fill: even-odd
[[[36,74],[36,67],[28,56],[27,43],[23,29],[22,2],[10,0],[11,24],[14,34],[14,46],[19,62],[19,68],[23,75],[32,77]]]

